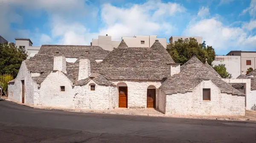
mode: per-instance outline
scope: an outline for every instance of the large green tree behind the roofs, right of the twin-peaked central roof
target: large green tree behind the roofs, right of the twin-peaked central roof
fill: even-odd
[[[178,39],[174,43],[167,45],[167,51],[172,56],[174,62],[184,64],[192,56],[197,56],[197,58],[205,63],[207,62],[211,65],[212,61],[215,59],[215,50],[212,46],[206,46],[204,41],[199,44],[195,38],[189,39]]]

